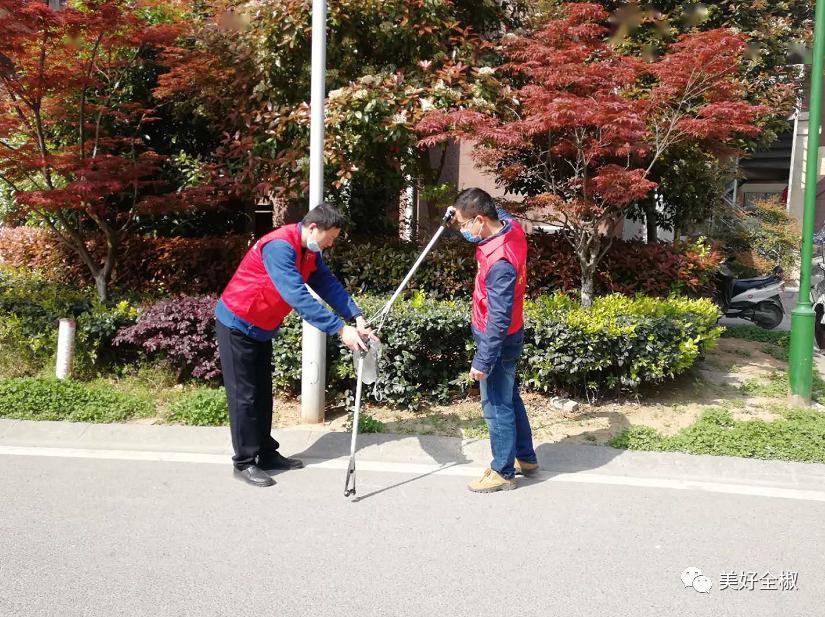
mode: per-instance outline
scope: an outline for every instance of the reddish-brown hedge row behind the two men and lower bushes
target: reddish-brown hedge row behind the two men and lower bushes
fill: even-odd
[[[112,284],[138,292],[219,293],[247,245],[244,236],[129,236],[124,239]],[[95,243],[90,243],[90,249],[96,254],[102,251]],[[351,292],[384,294],[398,286],[420,250],[398,239],[370,238],[341,241],[325,254],[325,259]],[[616,240],[597,272],[596,290],[599,294],[660,297],[672,293],[710,295],[711,275],[719,259],[719,254],[701,241],[649,245]],[[77,256],[36,228],[0,228],[0,264],[39,272],[56,282],[92,284]],[[427,257],[410,287],[434,298],[469,297],[475,267],[473,247],[459,238],[446,237]],[[528,295],[575,292],[579,274],[578,261],[563,236],[529,236]]]

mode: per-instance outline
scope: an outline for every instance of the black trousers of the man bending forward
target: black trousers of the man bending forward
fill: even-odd
[[[232,461],[238,469],[275,452],[272,438],[272,341],[262,343],[216,322],[223,385],[229,404]]]

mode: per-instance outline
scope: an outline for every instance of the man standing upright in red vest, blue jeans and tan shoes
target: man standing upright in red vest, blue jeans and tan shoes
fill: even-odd
[[[517,473],[532,475],[539,467],[516,379],[524,340],[527,240],[518,222],[481,189],[461,193],[455,209],[462,236],[477,247],[472,319],[477,347],[470,377],[479,382],[493,451],[490,468],[469,489],[492,493],[515,488]]]

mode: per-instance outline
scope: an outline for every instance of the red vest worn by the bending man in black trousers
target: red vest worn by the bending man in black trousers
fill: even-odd
[[[235,315],[264,330],[274,330],[292,307],[275,289],[264,268],[261,250],[272,240],[286,240],[295,250],[295,267],[304,282],[315,272],[315,253],[302,250],[298,225],[284,225],[260,238],[246,252],[235,274],[223,290],[221,300]],[[303,254],[303,257],[302,257]]]

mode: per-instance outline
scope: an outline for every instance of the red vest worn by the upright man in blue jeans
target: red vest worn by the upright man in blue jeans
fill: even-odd
[[[510,231],[476,247],[475,289],[473,290],[473,327],[487,331],[487,273],[497,261],[505,259],[516,269],[516,290],[513,296],[513,312],[507,334],[518,332],[524,325],[524,288],[527,284],[527,239],[515,219],[510,219]]]

